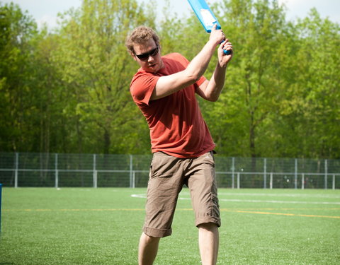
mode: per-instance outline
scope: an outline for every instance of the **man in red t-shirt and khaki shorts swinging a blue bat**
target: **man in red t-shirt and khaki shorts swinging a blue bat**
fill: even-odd
[[[208,42],[191,62],[181,54],[161,56],[159,37],[145,26],[135,28],[125,45],[140,69],[130,92],[149,124],[152,163],[147,188],[145,225],[138,262],[153,264],[161,237],[171,235],[171,223],[184,184],[191,192],[203,265],[215,265],[220,210],[215,180],[213,143],[196,94],[216,101],[225,83],[232,51],[222,30],[212,29]],[[217,48],[218,61],[208,81],[205,70]]]

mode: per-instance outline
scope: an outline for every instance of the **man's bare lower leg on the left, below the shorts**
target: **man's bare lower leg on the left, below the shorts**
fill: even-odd
[[[161,237],[149,237],[143,232],[140,236],[140,247],[138,249],[138,264],[152,265],[156,259],[159,240]]]

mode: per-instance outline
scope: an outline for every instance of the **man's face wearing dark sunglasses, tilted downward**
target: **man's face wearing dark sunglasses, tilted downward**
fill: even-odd
[[[148,40],[142,45],[135,45],[133,49],[135,54],[132,54],[132,57],[140,64],[143,70],[156,73],[163,68],[161,48],[157,47],[153,39]]]

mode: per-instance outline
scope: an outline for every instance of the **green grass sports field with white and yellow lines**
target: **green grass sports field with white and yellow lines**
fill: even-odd
[[[137,264],[146,189],[4,188],[0,265]],[[217,264],[340,264],[340,191],[220,189]],[[188,189],[155,265],[199,265]]]

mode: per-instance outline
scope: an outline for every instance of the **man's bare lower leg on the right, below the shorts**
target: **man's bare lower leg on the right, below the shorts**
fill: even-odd
[[[198,226],[198,243],[202,265],[215,265],[219,245],[218,228],[215,223],[203,223]]]

